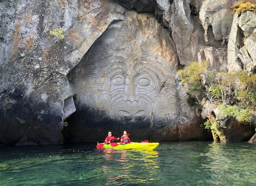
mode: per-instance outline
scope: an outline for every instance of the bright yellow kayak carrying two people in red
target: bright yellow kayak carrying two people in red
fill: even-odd
[[[114,149],[146,149],[146,150],[153,150],[155,149],[159,143],[129,143],[129,144],[120,144],[120,143],[111,143],[111,144],[104,144],[102,147],[104,148],[114,148]]]

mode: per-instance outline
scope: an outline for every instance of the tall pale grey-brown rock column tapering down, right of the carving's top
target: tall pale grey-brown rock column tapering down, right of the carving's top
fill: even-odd
[[[197,53],[205,48],[202,38],[203,29],[197,12],[191,15],[190,5],[186,1],[174,0],[171,23],[172,37],[182,65],[197,60]]]

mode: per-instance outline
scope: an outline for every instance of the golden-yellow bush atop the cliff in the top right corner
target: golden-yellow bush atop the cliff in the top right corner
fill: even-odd
[[[251,11],[256,13],[256,5],[255,5],[256,1],[254,0],[241,0],[238,3],[235,3],[231,8],[233,9],[233,13],[237,13],[237,14],[241,14],[245,11]],[[232,13],[232,14],[233,14]]]

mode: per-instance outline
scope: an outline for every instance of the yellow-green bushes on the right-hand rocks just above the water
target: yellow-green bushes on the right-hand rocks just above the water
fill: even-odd
[[[211,128],[212,133],[222,135],[220,118],[235,118],[240,123],[250,123],[256,110],[256,74],[248,76],[242,70],[234,73],[217,72],[208,61],[191,62],[178,71],[182,84],[189,86],[187,102],[202,118],[209,118],[203,113],[207,102],[214,108],[219,108],[219,116],[205,123],[205,128]]]

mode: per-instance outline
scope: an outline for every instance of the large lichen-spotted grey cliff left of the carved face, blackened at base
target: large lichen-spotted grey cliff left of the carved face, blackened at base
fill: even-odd
[[[75,111],[66,74],[125,9],[100,0],[1,1],[0,7],[0,144],[24,135],[38,144],[63,143],[63,120]],[[54,28],[64,30],[64,40],[53,41]]]

